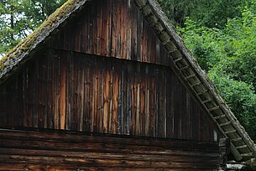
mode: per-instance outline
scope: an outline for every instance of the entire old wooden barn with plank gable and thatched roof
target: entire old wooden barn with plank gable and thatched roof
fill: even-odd
[[[217,170],[255,146],[154,0],[69,0],[0,61],[0,170]]]

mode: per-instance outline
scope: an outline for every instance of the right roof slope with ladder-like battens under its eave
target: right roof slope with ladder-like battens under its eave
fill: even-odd
[[[201,105],[204,106],[215,127],[231,140],[231,151],[234,157],[238,161],[255,158],[256,148],[253,140],[222,100],[222,97],[218,95],[216,87],[206,73],[201,70],[191,52],[185,47],[184,42],[176,33],[175,28],[170,25],[169,19],[165,16],[159,4],[154,0],[134,0],[134,2],[159,36],[162,44],[165,45],[165,48],[173,58],[175,70],[178,70],[182,79],[186,80],[188,87],[193,91],[192,93],[200,101]],[[219,112],[218,116],[216,115],[217,110]],[[222,118],[221,116],[224,117]],[[250,151],[250,153],[243,153],[242,149],[240,149],[242,146],[235,146],[235,142],[232,140],[237,139],[236,137],[242,137],[241,141],[247,146],[247,149],[243,149],[243,151]]]

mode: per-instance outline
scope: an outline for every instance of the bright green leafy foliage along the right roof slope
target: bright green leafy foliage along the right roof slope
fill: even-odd
[[[256,3],[223,29],[186,18],[180,34],[247,132],[256,140]]]

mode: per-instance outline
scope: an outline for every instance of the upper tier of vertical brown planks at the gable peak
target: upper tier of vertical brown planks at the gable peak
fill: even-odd
[[[50,48],[169,65],[169,54],[131,0],[97,0],[53,36]]]

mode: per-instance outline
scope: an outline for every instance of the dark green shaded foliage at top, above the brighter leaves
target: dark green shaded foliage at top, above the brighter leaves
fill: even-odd
[[[190,17],[201,26],[222,29],[227,18],[241,16],[247,0],[158,0],[167,17],[184,27],[185,18]]]

